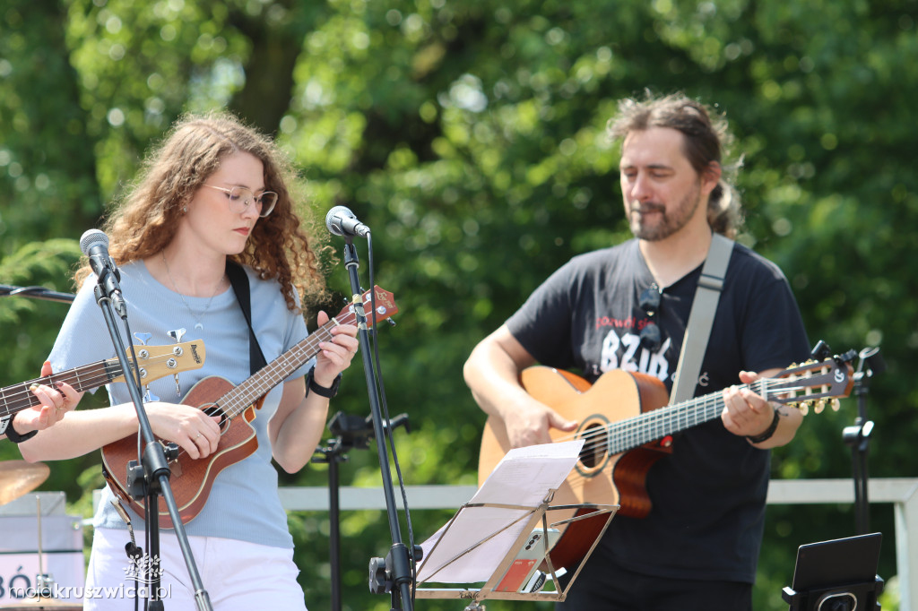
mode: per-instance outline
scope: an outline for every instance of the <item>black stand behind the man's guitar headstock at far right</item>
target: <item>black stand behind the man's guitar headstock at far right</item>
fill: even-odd
[[[866,535],[870,529],[867,458],[870,434],[873,432],[873,422],[867,419],[867,395],[870,378],[875,373],[885,371],[886,364],[879,356],[879,348],[865,348],[858,356],[860,362],[857,364],[855,373],[854,391],[857,397],[857,417],[854,425],[843,429],[842,439],[851,448],[851,467],[855,483],[856,534]]]

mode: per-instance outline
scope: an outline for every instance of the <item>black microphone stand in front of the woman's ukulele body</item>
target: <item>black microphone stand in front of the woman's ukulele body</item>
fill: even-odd
[[[117,311],[118,316],[127,322],[128,311],[125,307],[124,300],[121,298],[120,290],[106,290],[106,287],[109,287],[109,289],[112,286],[117,287],[117,281],[106,278],[106,276],[109,275],[115,274],[111,270],[107,270],[99,276],[94,292],[95,303],[102,308],[102,316],[106,319],[108,333],[115,346],[115,352],[118,355],[118,361],[121,363],[122,371],[126,373],[134,372],[134,369],[130,367],[128,354],[125,350],[124,342],[121,339],[121,334],[118,333],[118,328],[115,325],[115,316],[113,314],[113,310]],[[188,538],[185,535],[185,525],[182,524],[182,518],[179,517],[178,506],[175,504],[175,497],[172,492],[172,487],[169,484],[169,476],[172,473],[169,471],[166,451],[163,450],[162,445],[153,436],[150,420],[147,417],[146,409],[143,407],[143,399],[140,395],[140,385],[137,383],[132,373],[126,374],[124,378],[125,383],[128,385],[128,391],[134,403],[134,408],[137,410],[140,435],[144,444],[141,458],[142,472],[141,468],[133,464],[132,461],[132,466],[129,466],[129,487],[131,494],[134,495],[135,498],[145,496],[147,499],[146,526],[149,539],[148,559],[150,560],[150,570],[147,574],[151,578],[149,583],[149,608],[153,610],[163,608],[162,599],[159,598],[160,575],[162,574],[162,570],[159,567],[160,542],[158,521],[158,494],[162,494],[166,502],[166,507],[169,510],[169,515],[172,517],[175,536],[178,538],[178,544],[182,549],[182,554],[185,557],[185,565],[188,568],[188,574],[191,577],[191,583],[195,589],[197,608],[201,611],[210,611],[213,607],[210,605],[210,598],[207,595],[207,590],[204,589],[201,583],[201,576],[197,572],[195,558],[192,555],[191,546],[188,544]],[[177,447],[174,444],[170,445],[172,446],[169,450],[170,455],[171,458],[174,459]],[[139,564],[135,564],[135,568],[140,569]],[[140,571],[138,572],[140,573]]]

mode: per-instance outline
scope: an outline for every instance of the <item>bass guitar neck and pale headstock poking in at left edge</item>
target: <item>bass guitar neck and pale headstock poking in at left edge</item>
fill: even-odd
[[[140,383],[150,383],[174,373],[200,369],[204,365],[203,341],[186,341],[172,346],[136,346],[135,351],[140,367]],[[6,386],[0,388],[0,420],[41,404],[39,398],[31,391],[35,384],[53,386],[59,382],[66,382],[78,393],[83,393],[107,383],[123,381],[124,371],[121,369],[121,362],[115,358]]]

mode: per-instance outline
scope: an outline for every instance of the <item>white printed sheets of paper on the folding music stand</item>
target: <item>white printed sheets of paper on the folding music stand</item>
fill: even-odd
[[[529,508],[538,507],[550,490],[564,483],[583,444],[577,439],[507,452],[469,505],[521,508],[463,506],[449,530],[444,526],[421,544],[424,561],[418,583],[487,582],[520,536],[531,515]]]

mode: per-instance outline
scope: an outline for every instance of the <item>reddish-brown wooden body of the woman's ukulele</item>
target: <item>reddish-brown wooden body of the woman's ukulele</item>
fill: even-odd
[[[172,472],[169,483],[183,523],[200,513],[219,472],[251,456],[258,449],[258,439],[251,423],[255,418],[255,409],[261,407],[262,400],[243,409],[238,417],[231,418],[227,417],[227,410],[223,406],[215,403],[218,397],[225,396],[233,388],[228,380],[210,376],[196,383],[182,400],[185,405],[196,405],[211,416],[221,417],[221,434],[216,452],[207,458],[195,460],[185,450],[179,450],[178,458],[169,462]],[[165,442],[161,440],[161,443]],[[127,466],[130,461],[137,461],[137,447],[137,435],[110,443],[102,448],[102,462],[103,473],[112,490],[143,517],[144,505],[129,494]],[[160,528],[174,528],[169,512],[162,505],[159,508],[159,525]]]

